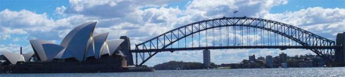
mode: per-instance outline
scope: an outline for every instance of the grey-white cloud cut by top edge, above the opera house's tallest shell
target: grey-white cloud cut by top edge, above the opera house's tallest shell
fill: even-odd
[[[99,18],[122,18],[134,11],[131,2],[126,0],[70,0],[67,13]]]

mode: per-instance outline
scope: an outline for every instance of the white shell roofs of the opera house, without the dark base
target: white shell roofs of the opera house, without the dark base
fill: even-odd
[[[106,54],[109,56],[121,55],[122,52],[117,48],[124,42],[124,39],[107,40],[109,33],[94,36],[93,32],[96,23],[86,22],[77,26],[67,34],[60,45],[48,40],[34,39],[30,40],[30,44],[34,50],[33,53],[1,53],[11,64],[16,64],[18,61],[30,61],[34,55],[38,61],[64,60],[68,58],[85,61],[87,60],[86,58],[98,59]]]

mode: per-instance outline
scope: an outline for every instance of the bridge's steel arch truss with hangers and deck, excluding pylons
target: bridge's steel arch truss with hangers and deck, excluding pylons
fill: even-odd
[[[232,30],[235,32],[234,39],[229,39],[229,27],[233,27]],[[244,27],[244,28],[243,28]],[[206,35],[207,37],[207,30],[212,30],[212,38],[214,29],[218,29],[216,32],[220,32],[220,45],[215,46],[214,43],[212,45],[201,45],[200,43],[200,37],[202,31],[206,31],[204,34],[204,37]],[[226,28],[226,29],[221,29]],[[236,29],[237,28],[237,29]],[[257,32],[256,34],[260,33],[261,35],[265,33],[265,31],[270,33],[274,33],[274,41],[279,42],[280,39],[279,36],[281,36],[280,41],[286,42],[286,39],[288,39],[288,45],[287,44],[270,44],[272,42],[271,40],[266,41],[268,44],[265,44],[265,39],[260,39],[261,43],[255,42],[254,44],[243,44],[243,36],[242,39],[237,40],[236,31],[240,30],[240,32],[243,35],[243,31],[250,31]],[[249,29],[248,29],[249,28]],[[221,31],[221,30],[227,30],[227,31]],[[259,32],[260,31],[260,32]],[[223,39],[225,41],[222,41],[222,33],[226,32],[224,37],[227,37],[226,39]],[[223,33],[224,34],[224,33]],[[250,34],[250,32],[249,32]],[[193,46],[187,47],[187,37],[192,37],[192,40],[194,38],[193,35],[197,35],[196,37],[199,38],[199,46]],[[278,38],[276,38],[276,35],[278,35]],[[218,35],[219,36],[219,35]],[[270,38],[266,36],[267,38]],[[180,45],[179,41],[184,39],[184,47],[177,47],[173,48],[173,45],[175,43],[178,43],[177,45]],[[250,39],[250,38],[247,38]],[[218,39],[219,40],[219,39]],[[213,39],[213,42],[215,40]],[[230,44],[229,41],[232,43]],[[258,40],[256,40],[258,41]],[[264,42],[262,42],[264,41]],[[290,44],[291,42],[296,43],[295,45]],[[193,42],[193,41],[192,41]],[[207,42],[207,39],[206,39]],[[224,44],[222,45],[222,43]],[[207,42],[208,43],[208,42]],[[267,19],[257,19],[257,18],[246,18],[246,17],[233,17],[233,18],[218,18],[218,19],[208,19],[208,20],[202,20],[194,23],[190,23],[178,28],[175,28],[171,31],[168,31],[162,35],[159,35],[155,38],[149,39],[147,41],[144,41],[142,43],[136,44],[136,49],[131,51],[132,53],[136,53],[136,63],[138,65],[138,55],[141,58],[141,63],[139,65],[142,65],[145,63],[148,59],[152,58],[159,52],[164,51],[180,51],[180,50],[205,50],[205,49],[236,49],[236,48],[279,48],[279,49],[290,49],[290,48],[297,48],[297,49],[309,49],[312,52],[314,52],[317,56],[320,56],[324,58],[326,61],[333,61],[334,60],[334,52],[337,49],[335,46],[335,41],[323,38],[321,36],[315,35],[311,32],[308,32],[306,30],[303,30],[301,28],[288,25],[285,23],[273,21],[273,20],[267,20]],[[145,57],[145,54],[148,55],[148,57]]]

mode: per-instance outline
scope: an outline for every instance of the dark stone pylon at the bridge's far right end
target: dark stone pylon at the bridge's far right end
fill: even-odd
[[[345,32],[339,33],[336,39],[336,45],[342,46],[341,49],[335,51],[335,62],[344,63],[345,62]]]

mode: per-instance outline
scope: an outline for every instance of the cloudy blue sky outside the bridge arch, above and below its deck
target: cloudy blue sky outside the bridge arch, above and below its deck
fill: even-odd
[[[237,14],[233,12],[239,11]],[[0,51],[33,52],[29,40],[60,44],[74,27],[97,21],[95,34],[128,36],[132,48],[192,22],[221,17],[252,17],[290,24],[334,40],[345,32],[345,0],[0,0]],[[211,62],[237,63],[249,55],[313,54],[303,49],[211,50]],[[201,51],[163,52],[145,64],[170,60],[203,62]]]

